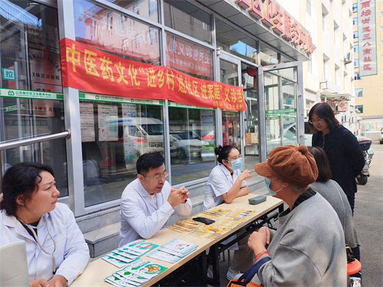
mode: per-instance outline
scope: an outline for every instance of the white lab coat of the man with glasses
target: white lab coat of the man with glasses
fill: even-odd
[[[165,181],[162,192],[155,194],[156,205],[138,178],[125,187],[121,196],[119,247],[139,238],[151,238],[157,231],[166,227],[173,211],[180,217],[190,215],[192,201],[187,199],[186,203],[181,203],[173,209],[168,202],[170,192],[171,186]]]

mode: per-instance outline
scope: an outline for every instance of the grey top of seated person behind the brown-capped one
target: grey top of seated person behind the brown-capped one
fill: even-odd
[[[350,203],[348,203],[342,187],[336,181],[329,180],[327,183],[313,183],[311,188],[325,197],[336,211],[345,233],[346,244],[351,248],[357,247],[359,245],[357,231],[355,230]]]

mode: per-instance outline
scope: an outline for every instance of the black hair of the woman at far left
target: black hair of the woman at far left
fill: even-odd
[[[40,176],[42,171],[47,171],[54,176],[51,166],[38,162],[22,162],[11,166],[4,173],[1,182],[3,201],[0,202],[0,210],[6,210],[9,216],[16,216],[20,206],[17,199],[22,200],[24,204],[31,201],[33,192],[38,189],[38,184],[42,180]]]

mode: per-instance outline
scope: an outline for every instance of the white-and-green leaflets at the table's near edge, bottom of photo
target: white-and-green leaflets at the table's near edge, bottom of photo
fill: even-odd
[[[164,272],[166,269],[168,268],[141,259],[130,265],[127,265],[127,267],[125,267],[123,270],[120,270],[105,278],[104,281],[107,281],[116,287],[140,286],[150,279],[156,277],[159,273]]]

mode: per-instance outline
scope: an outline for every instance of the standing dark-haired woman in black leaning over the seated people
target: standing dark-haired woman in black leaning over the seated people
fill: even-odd
[[[354,212],[357,192],[355,177],[364,167],[364,156],[357,138],[336,120],[327,102],[319,102],[311,108],[308,123],[316,131],[312,145],[325,150],[332,179],[341,185]]]

